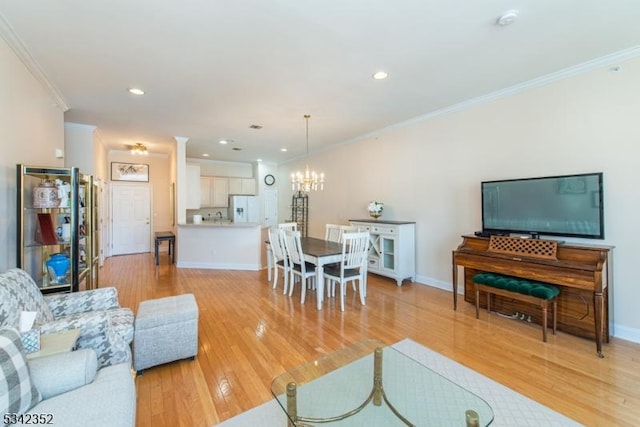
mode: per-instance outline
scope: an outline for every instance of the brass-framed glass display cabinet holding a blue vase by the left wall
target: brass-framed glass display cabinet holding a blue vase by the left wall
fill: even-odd
[[[91,175],[19,164],[16,182],[18,267],[43,293],[97,287]]]

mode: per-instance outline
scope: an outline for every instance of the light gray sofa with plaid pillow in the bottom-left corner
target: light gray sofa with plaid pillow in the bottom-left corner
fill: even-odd
[[[4,425],[135,426],[129,363],[98,369],[92,349],[26,360],[13,328],[0,329],[0,363],[7,373],[0,379]]]

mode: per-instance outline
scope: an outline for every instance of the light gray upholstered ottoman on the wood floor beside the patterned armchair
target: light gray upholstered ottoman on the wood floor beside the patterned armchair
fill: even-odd
[[[134,324],[133,367],[194,358],[198,353],[198,305],[193,294],[142,301]]]

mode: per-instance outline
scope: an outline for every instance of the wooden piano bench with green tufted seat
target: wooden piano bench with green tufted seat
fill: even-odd
[[[556,334],[557,296],[560,290],[547,283],[495,273],[473,276],[476,293],[476,319],[480,318],[480,291],[487,293],[487,312],[491,312],[491,295],[500,295],[517,301],[536,304],[542,310],[542,340],[547,342],[547,309],[552,307],[553,334]]]

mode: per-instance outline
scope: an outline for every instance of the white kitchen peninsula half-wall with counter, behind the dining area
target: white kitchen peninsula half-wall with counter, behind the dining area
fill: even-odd
[[[178,224],[176,265],[181,268],[262,268],[262,225],[204,221]]]

